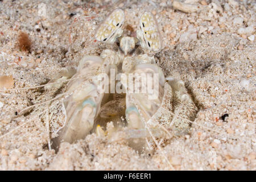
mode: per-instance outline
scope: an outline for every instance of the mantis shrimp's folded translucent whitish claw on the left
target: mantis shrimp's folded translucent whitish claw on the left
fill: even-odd
[[[53,140],[55,146],[62,140],[72,143],[82,139],[92,130],[104,96],[102,88],[98,86],[104,86],[104,78],[94,78],[101,73],[102,64],[100,56],[84,56],[80,61],[77,73],[72,77],[76,79],[67,85],[67,92],[72,94],[64,101],[66,122],[58,133],[59,137]]]

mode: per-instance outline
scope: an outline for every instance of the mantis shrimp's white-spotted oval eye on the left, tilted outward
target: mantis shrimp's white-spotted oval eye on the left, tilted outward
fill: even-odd
[[[117,34],[119,28],[122,27],[125,21],[125,13],[121,9],[115,9],[107,18],[100,24],[96,30],[95,38],[98,42],[108,42]]]

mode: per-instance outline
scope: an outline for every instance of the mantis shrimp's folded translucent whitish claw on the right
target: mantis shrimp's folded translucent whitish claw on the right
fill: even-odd
[[[146,80],[141,79],[137,82],[138,90],[140,92],[136,93],[128,91],[126,93],[127,128],[138,130],[140,133],[139,130],[143,131],[142,129],[149,129],[148,125],[150,124],[151,118],[162,104],[164,94],[164,82],[162,80],[164,79],[164,76],[160,68],[155,64],[139,64],[131,71],[131,73],[137,73],[137,77],[147,75]],[[156,79],[154,79],[155,75],[158,76]],[[137,86],[135,86],[135,88],[136,87]],[[147,88],[146,92],[142,91],[143,88]],[[155,92],[149,92],[151,89],[153,91],[157,90],[157,94],[155,94]],[[150,134],[150,132],[148,134]],[[135,150],[142,151],[146,147],[146,138],[131,138],[129,144]]]

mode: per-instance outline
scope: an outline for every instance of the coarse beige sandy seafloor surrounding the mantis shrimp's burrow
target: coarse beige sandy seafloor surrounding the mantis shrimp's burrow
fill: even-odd
[[[94,41],[94,32],[114,7],[125,10],[123,27],[130,35],[139,15],[151,11],[163,36],[158,65],[164,75],[185,82],[200,108],[194,123],[220,131],[192,125],[187,135],[162,144],[167,160],[176,170],[255,170],[255,1],[187,2],[201,11],[183,13],[166,0],[0,1],[0,75],[13,76],[14,88],[45,84],[61,68],[76,67],[82,55],[99,55],[106,48]],[[20,31],[31,39],[30,52],[17,46]],[[47,98],[44,89],[0,94],[1,170],[171,169],[158,148],[138,154],[125,141],[96,134],[61,143],[57,154],[48,150],[45,117],[39,115],[45,105],[12,119],[16,111]],[[54,135],[64,123],[63,107],[50,110]],[[224,114],[229,114],[225,122]]]

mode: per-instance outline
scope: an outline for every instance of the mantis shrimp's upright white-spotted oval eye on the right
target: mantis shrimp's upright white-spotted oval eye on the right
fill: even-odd
[[[139,25],[141,31],[144,32],[144,44],[150,51],[159,52],[162,48],[162,38],[155,16],[150,12],[143,13]]]

